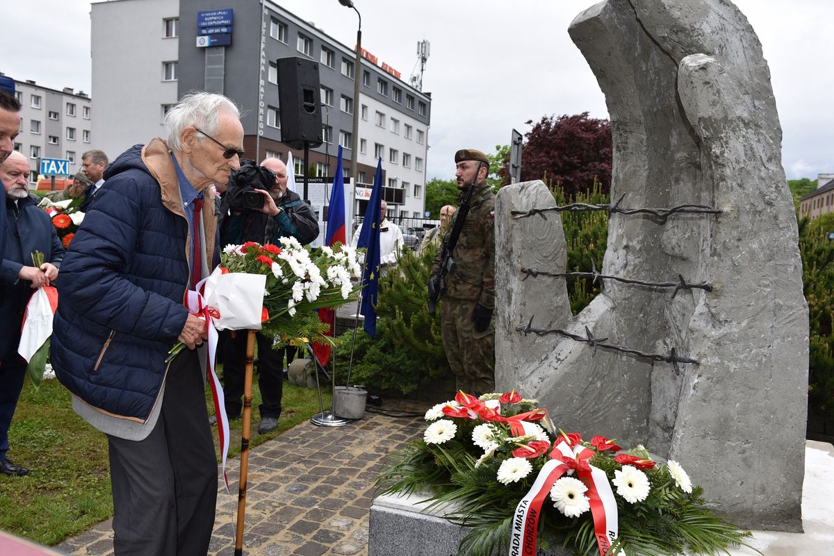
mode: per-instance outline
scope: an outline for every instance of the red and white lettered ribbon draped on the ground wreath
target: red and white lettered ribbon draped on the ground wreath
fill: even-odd
[[[564,440],[550,452],[550,461],[541,468],[533,486],[515,507],[510,529],[510,556],[535,554],[541,506],[555,482],[564,474],[572,474],[574,470],[588,488],[586,495],[594,519],[596,544],[600,556],[605,556],[619,534],[617,504],[605,472],[588,463],[593,455],[593,450],[581,444],[571,448]],[[566,463],[564,459],[576,463]],[[625,551],[620,549],[619,554],[625,556]]]

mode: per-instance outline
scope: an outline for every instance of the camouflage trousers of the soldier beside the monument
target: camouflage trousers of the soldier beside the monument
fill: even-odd
[[[455,389],[482,395],[495,390],[495,315],[483,332],[475,332],[472,311],[477,300],[446,297],[440,309],[443,347]]]

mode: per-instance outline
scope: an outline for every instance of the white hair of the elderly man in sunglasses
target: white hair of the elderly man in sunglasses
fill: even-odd
[[[168,148],[180,150],[179,136],[188,126],[198,127],[208,135],[217,132],[221,112],[240,118],[240,111],[229,97],[214,92],[190,92],[165,114]],[[205,137],[200,137],[204,141]]]

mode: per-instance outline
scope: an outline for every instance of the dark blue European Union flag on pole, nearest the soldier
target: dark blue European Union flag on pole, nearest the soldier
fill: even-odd
[[[365,270],[362,276],[361,313],[364,315],[364,330],[376,337],[376,299],[379,293],[379,226],[382,218],[379,204],[382,202],[382,159],[376,164],[374,187],[370,193],[368,208],[365,209],[362,230],[359,231],[357,247],[365,247]]]

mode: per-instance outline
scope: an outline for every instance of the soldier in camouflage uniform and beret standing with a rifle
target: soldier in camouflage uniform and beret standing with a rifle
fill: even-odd
[[[479,162],[483,162],[480,169]],[[481,395],[495,389],[495,195],[486,181],[490,160],[483,152],[457,151],[455,164],[459,202],[473,180],[477,179],[478,185],[452,252],[455,270],[446,276],[440,323],[456,389]],[[459,214],[456,211],[452,216],[444,242],[449,241]],[[433,278],[439,276],[440,264],[438,253]]]

